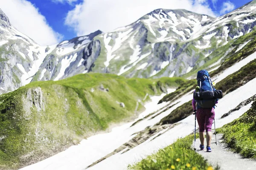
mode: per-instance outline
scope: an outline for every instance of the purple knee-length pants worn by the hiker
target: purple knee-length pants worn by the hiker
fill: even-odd
[[[215,117],[214,108],[199,108],[196,111],[196,118],[198,120],[199,132],[212,131],[212,122]]]

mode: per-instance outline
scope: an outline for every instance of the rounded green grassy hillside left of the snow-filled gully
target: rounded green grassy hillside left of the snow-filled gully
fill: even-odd
[[[32,82],[1,95],[0,168],[35,163],[111,123],[131,119],[136,108],[144,109],[146,94],[161,94],[184,81],[80,74],[56,82]]]

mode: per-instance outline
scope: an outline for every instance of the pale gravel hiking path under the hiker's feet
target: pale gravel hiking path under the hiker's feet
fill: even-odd
[[[239,154],[230,151],[226,144],[221,140],[222,135],[217,135],[217,145],[215,142],[215,136],[212,136],[211,149],[212,153],[196,150],[205,159],[207,159],[212,165],[221,167],[221,170],[256,170],[256,161],[252,159],[243,159]],[[196,140],[196,147],[199,149],[200,140]],[[193,145],[194,146],[194,145]]]

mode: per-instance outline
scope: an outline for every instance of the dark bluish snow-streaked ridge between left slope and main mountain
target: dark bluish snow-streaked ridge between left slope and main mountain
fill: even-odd
[[[44,59],[32,81],[59,80],[92,71],[101,52],[99,40],[93,40],[102,31],[65,40]]]

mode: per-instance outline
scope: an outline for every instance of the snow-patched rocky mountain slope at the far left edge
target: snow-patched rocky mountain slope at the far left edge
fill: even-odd
[[[0,10],[0,91],[13,91],[28,84],[44,58],[54,48],[41,47],[20,33]]]

